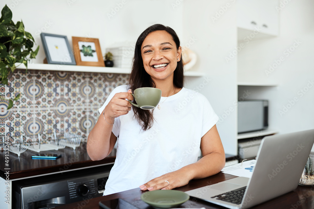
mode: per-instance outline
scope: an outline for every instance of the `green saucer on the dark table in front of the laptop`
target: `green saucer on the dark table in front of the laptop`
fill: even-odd
[[[154,190],[145,192],[141,196],[144,202],[157,209],[179,206],[189,198],[188,194],[177,190]]]

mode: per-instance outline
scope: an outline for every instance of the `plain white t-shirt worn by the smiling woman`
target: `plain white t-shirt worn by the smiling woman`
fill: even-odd
[[[99,112],[116,93],[127,92],[128,87],[116,87]],[[141,130],[133,110],[115,119],[112,133],[118,137],[116,160],[104,195],[138,188],[197,161],[201,138],[218,121],[208,100],[183,87],[168,98],[161,97],[159,104],[160,110],[154,109],[154,124],[147,131]]]

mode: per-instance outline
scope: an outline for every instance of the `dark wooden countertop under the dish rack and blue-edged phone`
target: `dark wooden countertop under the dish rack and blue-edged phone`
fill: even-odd
[[[45,153],[49,151],[44,151]],[[4,168],[10,168],[10,180],[26,178],[36,175],[51,174],[56,172],[65,172],[73,169],[80,169],[90,166],[98,166],[104,164],[113,164],[116,159],[116,150],[114,149],[105,159],[92,161],[86,151],[86,143],[81,143],[75,150],[66,147],[59,150],[51,150],[51,152],[62,154],[61,158],[51,159],[32,159],[31,156],[35,152],[26,150],[20,157],[17,154],[10,153],[9,166],[5,166],[4,151],[0,151],[0,176],[5,179]]]

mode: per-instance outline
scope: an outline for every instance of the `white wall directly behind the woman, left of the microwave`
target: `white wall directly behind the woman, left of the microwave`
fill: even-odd
[[[191,37],[197,39],[190,47],[198,55],[194,69],[206,72],[206,76],[202,78],[187,78],[187,87],[200,88],[205,78],[211,79],[200,92],[208,98],[220,118],[217,128],[225,153],[236,155],[236,111],[228,114],[230,107],[235,110],[232,103],[237,101],[236,59],[229,63],[225,61],[225,56],[229,55],[237,44],[236,5],[230,0],[197,0],[183,3],[183,38],[186,42]],[[212,17],[226,3],[230,3],[230,7],[213,21]]]

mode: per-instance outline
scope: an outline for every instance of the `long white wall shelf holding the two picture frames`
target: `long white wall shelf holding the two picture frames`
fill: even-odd
[[[19,63],[15,64],[16,66]],[[24,64],[16,67],[17,69],[26,69]],[[54,65],[54,64],[39,64],[33,63],[27,65],[28,70],[42,70],[42,71],[75,71],[75,72],[94,72],[94,73],[119,73],[130,74],[131,69],[118,67],[95,67],[95,66],[81,66],[81,65]],[[184,76],[204,76],[203,72],[185,71]]]

